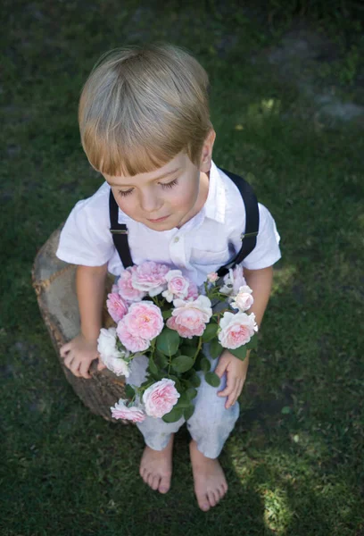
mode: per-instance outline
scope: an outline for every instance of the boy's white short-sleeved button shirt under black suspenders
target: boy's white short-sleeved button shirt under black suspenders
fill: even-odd
[[[70,264],[108,263],[109,272],[120,275],[123,266],[110,232],[110,190],[105,182],[92,197],[74,206],[62,229],[56,255]],[[276,223],[261,203],[259,212],[257,243],[242,263],[250,270],[267,268],[281,257]],[[152,230],[120,209],[118,220],[128,226],[128,245],[135,264],[145,261],[168,264],[201,285],[208,273],[227,264],[240,250],[245,208],[234,182],[212,163],[203,209],[180,229]]]

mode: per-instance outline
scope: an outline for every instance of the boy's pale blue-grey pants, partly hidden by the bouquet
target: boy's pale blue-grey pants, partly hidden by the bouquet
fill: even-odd
[[[213,372],[219,359],[211,358],[209,346],[209,344],[203,345],[203,353],[209,358],[211,372]],[[130,364],[130,375],[127,383],[139,387],[145,381],[147,364],[148,360],[145,356],[136,356]],[[201,378],[201,385],[197,388],[197,395],[193,399],[194,415],[187,422],[184,417],[181,417],[176,423],[164,423],[162,419],[145,417],[143,423],[136,423],[148,447],[153,448],[153,450],[166,448],[170,442],[170,434],[178,431],[186,422],[187,429],[193,440],[196,441],[200,452],[210,458],[219,456],[239,416],[239,404],[236,402],[234,406],[226,409],[227,397],[218,397],[218,391],[226,387],[226,373],[222,376],[219,387],[211,387],[204,380],[202,372],[198,375]]]

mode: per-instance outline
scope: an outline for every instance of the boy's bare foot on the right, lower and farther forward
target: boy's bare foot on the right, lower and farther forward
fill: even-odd
[[[227,492],[225,474],[218,459],[203,456],[194,440],[190,443],[190,456],[194,473],[194,493],[198,506],[207,512],[215,507]]]

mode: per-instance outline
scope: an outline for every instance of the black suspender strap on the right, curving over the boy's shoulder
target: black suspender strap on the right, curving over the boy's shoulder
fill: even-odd
[[[229,268],[234,268],[236,264],[240,264],[244,261],[244,258],[252,253],[256,243],[259,232],[259,207],[257,198],[252,190],[249,182],[239,177],[235,173],[227,172],[221,169],[222,172],[227,174],[239,188],[240,194],[243,197],[245,205],[245,230],[241,235],[242,247],[237,255],[227,264],[221,266],[218,270],[219,277],[226,275]]]

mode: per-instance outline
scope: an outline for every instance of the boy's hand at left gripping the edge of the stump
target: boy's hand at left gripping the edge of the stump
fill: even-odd
[[[97,340],[87,340],[79,333],[61,348],[61,357],[64,358],[65,366],[78,378],[91,378],[88,372],[90,364],[99,357]],[[97,370],[102,371],[105,365],[102,361],[97,365]]]

